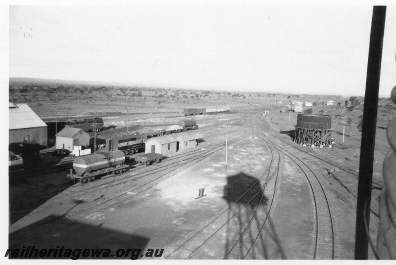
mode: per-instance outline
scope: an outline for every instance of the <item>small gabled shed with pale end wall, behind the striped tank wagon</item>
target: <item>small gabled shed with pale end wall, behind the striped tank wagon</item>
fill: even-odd
[[[83,129],[65,127],[56,133],[56,149],[67,149],[73,151],[74,146],[89,146],[90,135]]]

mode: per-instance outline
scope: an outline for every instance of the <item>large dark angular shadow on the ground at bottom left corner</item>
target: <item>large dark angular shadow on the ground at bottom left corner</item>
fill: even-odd
[[[75,200],[75,206],[85,203],[84,201]],[[75,207],[74,206],[74,207]],[[73,207],[73,208],[74,208]],[[71,209],[70,209],[71,210]],[[70,211],[69,210],[69,211]],[[45,219],[37,221],[13,233],[10,233],[9,248],[23,249],[23,246],[30,246],[29,254],[31,257],[13,257],[12,253],[9,254],[9,259],[140,259],[142,254],[146,254],[146,247],[149,241],[148,237],[135,233],[126,233],[117,231],[111,228],[103,227],[100,221],[95,220],[98,224],[89,224],[87,222],[76,221],[75,219],[64,218],[63,216],[51,215]],[[133,228],[133,223],[130,224]],[[40,257],[39,254],[34,256],[35,249],[56,249],[58,248],[57,255],[52,256],[54,251],[49,257]],[[60,249],[63,247],[64,251],[61,256]],[[71,249],[71,253],[67,255],[66,249]],[[97,257],[84,257],[82,252],[79,253],[76,249],[103,249]],[[105,249],[108,249],[107,251]],[[119,249],[123,249],[118,251]],[[134,249],[126,253],[127,249]],[[136,249],[141,249],[139,252]],[[27,251],[26,251],[27,252]],[[38,252],[38,251],[37,251]],[[106,254],[108,257],[106,257]],[[122,254],[122,257],[117,257],[116,254]],[[26,256],[28,256],[27,254]],[[111,256],[113,255],[113,256]]]

